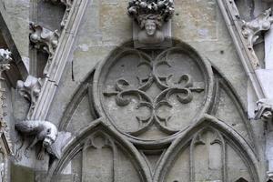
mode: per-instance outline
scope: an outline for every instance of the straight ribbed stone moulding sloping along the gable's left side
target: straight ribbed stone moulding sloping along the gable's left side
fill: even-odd
[[[61,76],[65,70],[66,62],[71,58],[70,53],[76,34],[86,12],[88,0],[78,0],[73,3],[67,24],[66,31],[62,31],[56,52],[49,67],[45,83],[42,86],[41,94],[38,97],[37,104],[31,119],[45,120],[48,110],[56,94],[56,87],[59,84]],[[68,23],[69,22],[69,23]]]

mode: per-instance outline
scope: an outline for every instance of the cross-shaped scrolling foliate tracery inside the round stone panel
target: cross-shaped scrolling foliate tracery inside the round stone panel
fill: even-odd
[[[130,83],[130,81],[121,76],[116,79],[114,90],[109,91],[106,89],[104,91],[104,96],[116,96],[117,106],[128,106],[134,97],[138,100],[136,109],[148,109],[148,116],[136,116],[136,120],[139,122],[138,129],[127,132],[130,135],[140,135],[153,125],[168,135],[176,133],[179,131],[179,128],[170,128],[168,126],[168,121],[172,116],[160,116],[158,110],[162,106],[169,109],[173,107],[171,96],[175,96],[181,105],[186,105],[194,99],[193,92],[201,93],[205,90],[205,83],[194,82],[192,76],[189,74],[181,73],[178,79],[175,79],[172,73],[162,76],[158,72],[158,68],[161,66],[174,67],[169,57],[171,53],[172,51],[168,51],[164,54],[164,58],[159,55],[153,59],[147,56],[147,54],[137,51],[136,54],[139,61],[136,67],[146,66],[149,74],[147,76],[136,76],[138,80],[137,85]],[[154,84],[159,88],[160,93],[157,96],[149,96],[147,93],[148,89]]]

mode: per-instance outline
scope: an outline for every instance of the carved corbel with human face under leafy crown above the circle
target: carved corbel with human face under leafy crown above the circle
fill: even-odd
[[[131,0],[128,5],[130,15],[142,31],[138,34],[138,41],[143,44],[158,44],[165,37],[160,30],[174,14],[173,0]]]

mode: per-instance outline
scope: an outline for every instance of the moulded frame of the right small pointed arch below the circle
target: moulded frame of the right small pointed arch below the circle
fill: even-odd
[[[211,128],[225,138],[227,144],[233,148],[248,167],[248,174],[251,175],[251,180],[258,182],[258,158],[253,149],[248,145],[246,140],[238,134],[232,127],[228,126],[223,121],[214,116],[205,115],[197,125],[191,126],[185,133],[178,136],[177,139],[167,148],[166,155],[160,161],[157,167],[154,181],[165,181],[168,169],[174,164],[180,151],[188,147],[194,136],[204,129]]]

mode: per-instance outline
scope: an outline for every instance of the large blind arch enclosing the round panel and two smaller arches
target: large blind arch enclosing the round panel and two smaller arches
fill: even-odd
[[[68,107],[85,106],[97,119],[60,123],[83,129],[48,181],[259,181],[252,130],[232,86],[193,47],[172,42],[143,50],[130,42],[97,66],[78,88],[89,105]]]

